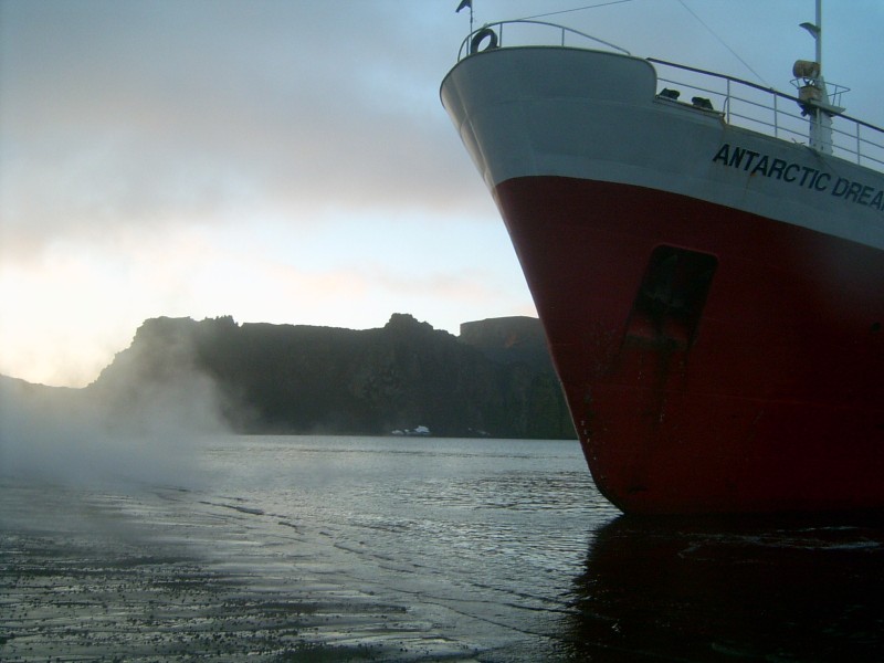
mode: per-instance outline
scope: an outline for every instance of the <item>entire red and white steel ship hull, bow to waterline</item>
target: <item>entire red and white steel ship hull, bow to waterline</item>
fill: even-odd
[[[884,177],[661,102],[645,61],[508,51],[442,98],[599,488],[648,514],[884,506]]]

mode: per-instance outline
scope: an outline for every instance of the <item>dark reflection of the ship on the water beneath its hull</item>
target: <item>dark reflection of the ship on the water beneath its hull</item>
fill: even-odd
[[[573,660],[882,661],[884,526],[624,516],[573,608]]]

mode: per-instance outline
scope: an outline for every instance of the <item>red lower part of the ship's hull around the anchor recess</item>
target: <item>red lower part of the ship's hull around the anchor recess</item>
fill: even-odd
[[[884,252],[630,185],[537,176],[494,194],[611,502],[884,506]],[[636,314],[661,245],[715,263],[693,318]]]

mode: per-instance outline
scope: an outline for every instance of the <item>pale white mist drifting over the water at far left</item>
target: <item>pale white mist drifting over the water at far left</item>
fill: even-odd
[[[90,488],[196,488],[199,449],[229,429],[204,375],[185,369],[128,389],[0,379],[0,478]]]

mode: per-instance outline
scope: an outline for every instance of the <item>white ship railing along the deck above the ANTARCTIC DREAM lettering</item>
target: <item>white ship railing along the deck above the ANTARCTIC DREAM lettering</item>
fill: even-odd
[[[809,141],[811,116],[799,97],[726,74],[654,57],[648,61],[659,67],[657,82],[662,88],[676,87],[680,98],[690,98],[692,103],[694,97],[708,99],[727,124],[796,143]],[[884,129],[881,127],[844,113],[835,114],[831,148],[838,157],[884,170]]]

